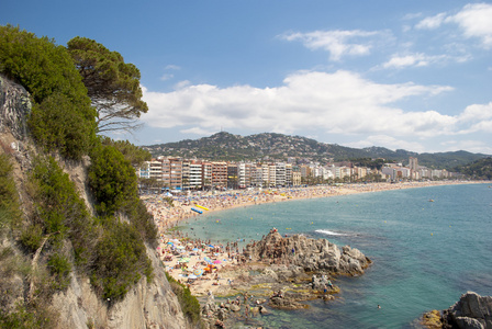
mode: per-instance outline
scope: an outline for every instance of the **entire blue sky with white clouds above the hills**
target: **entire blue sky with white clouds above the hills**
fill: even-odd
[[[85,36],[141,71],[153,145],[280,133],[492,155],[492,1],[3,1],[11,24]]]

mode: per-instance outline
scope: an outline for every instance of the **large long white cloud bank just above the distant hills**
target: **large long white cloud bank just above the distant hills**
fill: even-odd
[[[339,70],[300,71],[276,88],[183,84],[169,93],[144,90],[149,111],[143,120],[154,127],[193,127],[197,133],[241,128],[294,134],[370,134],[436,136],[452,134],[457,118],[435,111],[394,107],[411,97],[451,90],[444,86],[380,84]]]

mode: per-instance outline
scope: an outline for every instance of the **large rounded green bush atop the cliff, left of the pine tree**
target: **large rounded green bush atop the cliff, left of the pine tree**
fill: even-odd
[[[96,110],[65,47],[19,27],[0,26],[0,72],[33,97],[27,124],[40,145],[70,159],[89,151],[96,138]]]

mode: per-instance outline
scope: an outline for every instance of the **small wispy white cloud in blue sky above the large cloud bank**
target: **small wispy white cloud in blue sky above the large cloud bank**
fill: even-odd
[[[329,53],[331,60],[340,60],[343,56],[364,56],[372,48],[370,37],[380,32],[353,31],[314,31],[309,33],[289,33],[279,37],[286,41],[300,41],[312,50],[323,49]]]

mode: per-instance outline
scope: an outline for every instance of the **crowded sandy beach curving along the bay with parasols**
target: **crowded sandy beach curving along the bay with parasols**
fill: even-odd
[[[470,181],[431,181],[404,183],[345,184],[310,188],[290,188],[250,191],[227,191],[197,193],[172,198],[159,195],[144,195],[147,209],[154,215],[159,229],[160,243],[157,252],[166,271],[177,281],[187,284],[195,296],[220,295],[234,288],[237,266],[242,254],[237,245],[213,245],[212,241],[182,237],[171,228],[179,222],[200,216],[192,208],[202,212],[217,212],[239,206],[264,203],[288,202],[289,200],[329,197],[355,193],[370,193],[388,190],[426,188],[449,184],[487,183]],[[169,202],[171,201],[171,202]]]

